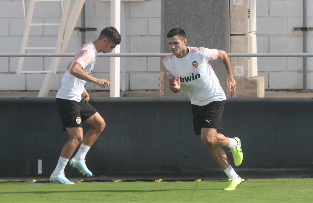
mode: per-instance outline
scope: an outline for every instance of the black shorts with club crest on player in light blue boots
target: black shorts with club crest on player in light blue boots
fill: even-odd
[[[84,98],[80,102],[56,98],[56,102],[64,131],[71,127],[82,128],[84,121],[97,113],[97,110]]]

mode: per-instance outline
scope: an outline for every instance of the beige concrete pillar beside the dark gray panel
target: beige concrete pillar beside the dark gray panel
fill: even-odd
[[[230,1],[229,5],[230,52],[257,53],[256,0]],[[257,58],[232,57],[230,64],[235,79],[258,76]]]

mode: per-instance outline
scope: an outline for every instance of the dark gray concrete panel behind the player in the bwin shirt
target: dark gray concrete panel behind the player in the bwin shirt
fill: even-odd
[[[229,0],[162,0],[161,53],[171,52],[166,35],[175,27],[181,27],[186,32],[186,46],[221,49],[229,53]],[[225,90],[226,69],[222,60],[210,63]],[[162,64],[163,61],[161,61],[161,71],[164,71]],[[174,94],[168,89],[168,86],[165,75],[165,96],[186,95],[184,91]]]

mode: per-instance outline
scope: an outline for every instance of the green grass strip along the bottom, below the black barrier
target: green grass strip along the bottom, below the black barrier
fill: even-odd
[[[226,181],[0,181],[0,202],[313,202],[313,179],[250,179],[235,191]]]

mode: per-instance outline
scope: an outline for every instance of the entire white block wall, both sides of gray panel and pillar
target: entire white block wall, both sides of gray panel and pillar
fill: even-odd
[[[29,1],[26,0],[26,8]],[[257,51],[258,53],[301,53],[302,0],[257,0]],[[44,5],[48,6],[44,6]],[[125,38],[121,42],[124,53],[159,53],[161,27],[161,0],[123,2],[125,15]],[[313,27],[313,0],[307,0],[308,27]],[[86,27],[97,31],[86,32],[86,42],[95,40],[100,31],[110,26],[110,2],[86,0]],[[46,8],[49,9],[46,9]],[[58,2],[36,2],[33,22],[60,22],[61,7]],[[20,0],[0,1],[0,53],[19,53],[23,36],[23,4]],[[124,26],[123,26],[124,25]],[[76,23],[80,27],[80,19]],[[121,33],[122,33],[121,32]],[[53,46],[58,29],[55,27],[32,27],[29,46]],[[161,36],[163,37],[163,36]],[[79,31],[73,31],[66,53],[77,52],[81,46]],[[31,44],[32,43],[32,44]],[[313,31],[308,31],[308,52],[313,52]],[[36,53],[35,50],[29,51]],[[38,51],[37,51],[38,52]],[[52,53],[52,51],[45,51]],[[63,58],[52,89],[60,86],[64,70],[70,58]],[[51,58],[25,58],[23,70],[46,70]],[[44,74],[16,75],[17,58],[0,57],[0,91],[38,90]],[[302,58],[258,58],[258,76],[264,76],[265,89],[301,89]],[[126,69],[126,90],[158,89],[159,58],[121,58],[121,70]],[[98,58],[94,73],[109,79],[109,58]],[[313,89],[313,58],[308,58],[308,88]],[[37,85],[36,85],[37,84]],[[88,89],[96,89],[88,84]]]

